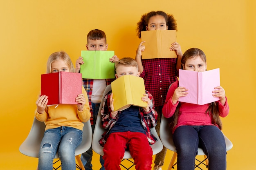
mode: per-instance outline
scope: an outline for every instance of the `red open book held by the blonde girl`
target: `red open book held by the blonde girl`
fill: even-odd
[[[48,96],[48,104],[77,104],[82,93],[82,74],[60,71],[41,75],[41,95]]]

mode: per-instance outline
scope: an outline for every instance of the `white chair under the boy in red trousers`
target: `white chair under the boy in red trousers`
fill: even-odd
[[[99,144],[99,140],[102,138],[101,135],[105,132],[105,129],[101,125],[101,108],[103,105],[104,97],[109,91],[111,91],[111,85],[108,85],[104,91],[104,94],[103,94],[103,97],[101,100],[101,105],[99,108],[99,113],[97,116],[97,121],[95,124],[93,137],[92,137],[92,149],[94,150],[94,152],[96,152],[99,155],[103,155],[103,147]],[[153,155],[155,155],[163,149],[163,144],[160,141],[155,128],[150,128],[150,130],[153,133],[153,135],[157,138],[157,142],[153,145],[150,145],[153,150]],[[132,156],[130,155],[130,152],[128,150],[126,150],[122,161],[128,160],[128,159],[132,159]],[[128,161],[130,161],[130,160],[128,160]],[[130,162],[132,162],[132,161],[130,161]],[[123,164],[121,164],[121,166],[126,168]],[[132,166],[134,166],[133,162],[132,162]],[[126,168],[126,170],[129,170],[132,166],[130,166],[129,168]]]

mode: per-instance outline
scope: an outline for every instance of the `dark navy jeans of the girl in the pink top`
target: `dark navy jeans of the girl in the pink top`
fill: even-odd
[[[177,150],[177,169],[194,170],[198,147],[209,158],[209,170],[226,170],[226,143],[216,126],[180,126],[173,133]]]

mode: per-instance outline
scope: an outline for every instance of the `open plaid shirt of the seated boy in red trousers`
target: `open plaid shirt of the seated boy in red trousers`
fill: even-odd
[[[116,117],[111,117],[111,108],[110,108],[110,101],[109,101],[111,93],[112,91],[106,94],[103,102],[103,106],[101,109],[101,115],[102,115],[101,124],[103,128],[106,129],[106,131],[102,135],[102,138],[99,141],[99,144],[101,146],[104,146],[104,144],[106,143],[110,129],[115,125],[121,113],[121,111],[118,111]],[[151,100],[150,110],[149,112],[145,113],[143,108],[139,108],[139,114],[141,117],[141,124],[146,132],[146,136],[148,138],[149,144],[155,144],[157,139],[150,131],[150,128],[153,128],[157,125],[157,112],[155,111],[154,99],[152,95],[148,91],[146,91],[146,93],[148,94],[148,97]]]

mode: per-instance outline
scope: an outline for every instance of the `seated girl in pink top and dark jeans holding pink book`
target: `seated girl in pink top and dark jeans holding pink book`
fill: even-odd
[[[182,56],[181,69],[190,71],[206,71],[207,63],[204,52],[197,48],[187,50]],[[225,90],[215,87],[213,97],[220,100],[210,104],[196,105],[178,102],[189,93],[186,87],[178,87],[174,82],[168,90],[163,107],[164,117],[171,117],[173,141],[177,150],[178,170],[195,168],[195,156],[200,146],[209,157],[209,170],[226,170],[226,144],[220,131],[220,117],[229,113],[229,105]]]

